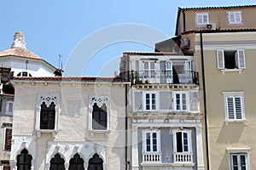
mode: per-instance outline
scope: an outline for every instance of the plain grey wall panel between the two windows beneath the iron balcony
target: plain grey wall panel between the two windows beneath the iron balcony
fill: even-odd
[[[172,92],[160,92],[160,110],[172,110]]]

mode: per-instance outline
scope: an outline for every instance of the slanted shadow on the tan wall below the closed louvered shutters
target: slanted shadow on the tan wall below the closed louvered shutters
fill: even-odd
[[[220,133],[218,135],[217,144],[234,144],[239,142],[241,133],[246,125],[242,122],[231,122],[229,124],[223,124]]]

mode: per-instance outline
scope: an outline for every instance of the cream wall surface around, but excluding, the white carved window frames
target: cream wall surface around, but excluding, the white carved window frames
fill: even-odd
[[[51,133],[41,133],[41,137],[38,137],[35,130],[38,94],[42,93],[60,94],[60,112],[55,138]],[[110,99],[110,128],[108,133],[90,133],[88,129],[90,95],[108,96]],[[67,105],[70,101],[79,102],[79,116],[68,115]],[[104,153],[106,152],[106,157],[104,157],[106,160],[103,163],[107,163],[107,169],[125,169],[125,83],[123,82],[15,82],[13,124],[14,139],[20,136],[32,136],[35,139],[35,146],[32,146],[33,144],[29,146],[29,139],[26,139],[27,147],[32,146],[36,150],[36,157],[33,157],[34,160],[32,161],[34,162],[34,169],[45,169],[49,142],[60,143],[61,147],[61,144],[65,143],[69,144],[69,147],[76,143],[79,145],[86,143],[83,147],[85,149],[88,147],[88,150],[90,150],[90,144],[94,142],[105,144],[96,147],[105,148],[102,149]],[[15,160],[15,154],[20,148],[18,140],[14,141],[11,150],[12,161]],[[82,152],[84,149],[79,148],[79,150]],[[88,159],[90,158],[84,160],[85,166],[88,166]],[[68,162],[69,160],[65,161]]]

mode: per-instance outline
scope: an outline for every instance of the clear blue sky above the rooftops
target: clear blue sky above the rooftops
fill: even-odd
[[[15,31],[20,30],[26,37],[26,48],[55,67],[59,65],[59,54],[62,55],[63,68],[70,65],[73,70],[77,67],[76,64],[71,63],[71,60],[79,62],[83,60],[81,58],[83,56],[89,60],[86,64],[81,62],[83,71],[79,71],[76,76],[113,76],[113,71],[119,70],[119,57],[123,51],[154,51],[152,44],[148,45],[136,40],[136,35],[142,36],[142,31],[129,29],[129,26],[125,27],[126,30],[122,30],[115,26],[121,27],[130,23],[160,31],[166,37],[173,37],[178,7],[247,4],[256,4],[256,2],[255,0],[2,0],[0,51],[10,48]],[[98,34],[108,28],[111,28],[110,33]],[[133,32],[134,35],[131,35]],[[113,41],[113,36],[119,34],[125,34],[128,40],[127,37],[120,36],[119,40]],[[154,34],[147,33],[145,37],[154,37]],[[156,42],[163,40],[158,40],[157,37],[155,39]],[[104,46],[97,47],[94,53],[88,54],[89,40],[92,46],[100,46],[99,42],[102,40],[108,41]],[[79,52],[83,55],[76,58],[74,52],[83,41],[87,41],[87,46],[83,48],[84,51]]]

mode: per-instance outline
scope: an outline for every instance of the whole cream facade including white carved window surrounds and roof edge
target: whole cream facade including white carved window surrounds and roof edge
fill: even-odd
[[[41,80],[20,77],[15,78],[13,84],[16,94],[10,156],[12,170],[17,168],[17,156],[24,148],[32,156],[32,169],[49,170],[50,160],[56,153],[64,159],[65,169],[75,154],[84,160],[84,169],[94,154],[102,159],[104,170],[125,169],[125,88],[129,82],[108,78],[81,82],[81,79],[65,77],[42,77]],[[41,130],[38,126],[40,105],[53,101],[55,128]],[[68,113],[70,101],[79,103],[79,115]],[[94,102],[108,106],[106,130],[92,130],[89,126]]]

